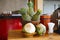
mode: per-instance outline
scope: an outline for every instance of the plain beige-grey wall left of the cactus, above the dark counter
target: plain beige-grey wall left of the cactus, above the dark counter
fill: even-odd
[[[0,12],[19,10],[22,7],[27,7],[28,0],[0,0]]]

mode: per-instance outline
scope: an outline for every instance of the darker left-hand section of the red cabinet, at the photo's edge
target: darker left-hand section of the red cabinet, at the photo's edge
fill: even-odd
[[[0,40],[7,40],[8,30],[5,19],[0,19]]]

